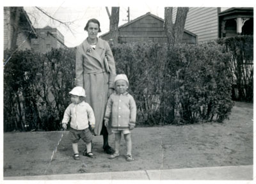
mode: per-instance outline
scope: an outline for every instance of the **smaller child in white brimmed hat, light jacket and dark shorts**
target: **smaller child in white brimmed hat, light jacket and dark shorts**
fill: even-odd
[[[73,158],[79,160],[78,142],[80,139],[86,144],[87,152],[84,156],[94,158],[92,153],[92,133],[89,130],[90,126],[93,129],[95,127],[95,117],[92,107],[84,102],[85,91],[82,87],[77,86],[73,88],[70,92],[72,104],[68,105],[64,112],[64,117],[62,120],[62,127],[66,130],[67,123],[70,121],[70,131],[69,138],[72,141],[72,148],[74,151]]]

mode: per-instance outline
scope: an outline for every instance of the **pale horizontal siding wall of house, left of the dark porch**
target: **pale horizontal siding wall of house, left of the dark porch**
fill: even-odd
[[[173,8],[173,22],[177,8]],[[185,29],[198,36],[198,42],[206,42],[218,38],[218,8],[189,7]]]

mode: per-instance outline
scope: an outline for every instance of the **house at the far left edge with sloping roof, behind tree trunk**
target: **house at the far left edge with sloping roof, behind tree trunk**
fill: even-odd
[[[16,27],[16,28],[15,28]],[[36,37],[34,27],[23,7],[4,7],[4,50],[14,49],[13,41],[19,50],[31,49],[31,39]],[[15,40],[13,40],[15,39]]]

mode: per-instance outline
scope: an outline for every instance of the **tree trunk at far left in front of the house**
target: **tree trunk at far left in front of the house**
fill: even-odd
[[[15,50],[17,48],[17,38],[19,33],[20,7],[12,7],[11,15],[12,13],[14,15],[14,20],[12,22],[13,33],[12,33],[11,49]]]

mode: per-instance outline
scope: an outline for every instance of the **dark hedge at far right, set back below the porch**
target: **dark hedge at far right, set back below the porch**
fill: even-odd
[[[234,36],[217,40],[231,53],[232,99],[253,102],[253,36]]]

